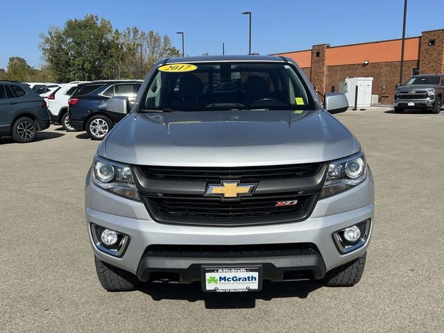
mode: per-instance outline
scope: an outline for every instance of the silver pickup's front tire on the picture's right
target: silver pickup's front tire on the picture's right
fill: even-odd
[[[328,271],[324,277],[324,284],[328,287],[352,287],[361,280],[366,266],[367,253],[361,257],[343,264],[342,266],[333,268]]]

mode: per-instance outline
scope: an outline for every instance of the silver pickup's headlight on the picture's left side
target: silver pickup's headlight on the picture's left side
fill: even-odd
[[[92,171],[92,181],[101,189],[133,200],[140,200],[133,172],[128,165],[96,155]]]

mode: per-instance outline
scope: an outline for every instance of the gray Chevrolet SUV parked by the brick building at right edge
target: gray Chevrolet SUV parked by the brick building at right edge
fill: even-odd
[[[438,114],[443,106],[444,74],[415,75],[395,90],[395,112],[404,109],[432,110]]]

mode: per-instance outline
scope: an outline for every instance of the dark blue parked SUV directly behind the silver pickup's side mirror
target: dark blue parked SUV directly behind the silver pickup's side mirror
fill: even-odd
[[[127,96],[134,101],[142,80],[93,81],[78,85],[69,99],[69,124],[76,130],[86,130],[92,139],[103,139],[123,115],[107,110],[108,99]]]

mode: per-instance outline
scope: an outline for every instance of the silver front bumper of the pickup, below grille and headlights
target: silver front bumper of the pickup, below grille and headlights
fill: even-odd
[[[96,187],[88,178],[85,187],[86,218],[89,239],[94,254],[108,262],[148,280],[155,272],[181,273],[180,282],[199,279],[201,264],[262,264],[264,278],[282,280],[285,271],[308,269],[314,278],[322,278],[326,271],[341,266],[364,254],[366,243],[350,253],[341,254],[336,249],[332,235],[361,221],[370,219],[373,228],[373,181],[370,176],[353,189],[324,198],[316,203],[309,219],[296,223],[271,225],[244,225],[217,227],[202,225],[171,225],[157,223],[149,216],[146,206]],[[92,241],[90,223],[116,230],[130,237],[122,257],[113,257],[96,248]],[[317,253],[303,253],[307,257],[238,257],[164,258],[147,257],[151,245],[218,245],[236,246],[250,244],[314,244]],[[266,273],[266,272],[269,273]]]

